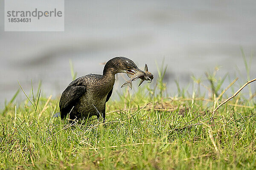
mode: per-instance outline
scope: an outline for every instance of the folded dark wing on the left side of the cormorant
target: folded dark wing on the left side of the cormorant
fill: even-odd
[[[70,83],[71,84],[71,83]],[[73,82],[61,94],[59,103],[61,119],[71,111],[76,101],[86,92],[86,87],[80,81]]]

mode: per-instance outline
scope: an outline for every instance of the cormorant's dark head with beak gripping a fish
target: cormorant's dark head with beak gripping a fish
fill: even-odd
[[[107,72],[111,72],[112,74],[126,73],[131,75],[134,75],[137,72],[142,72],[145,74],[145,71],[140,70],[131,59],[126,57],[115,57],[109,60],[104,67],[103,74],[106,74]]]

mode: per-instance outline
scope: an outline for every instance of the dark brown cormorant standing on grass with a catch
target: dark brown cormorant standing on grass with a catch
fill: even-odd
[[[115,83],[115,74],[135,74],[140,71],[128,58],[115,57],[104,67],[103,75],[88,74],[71,82],[63,91],[59,103],[61,119],[70,113],[70,119],[87,119],[97,116],[105,120],[106,102],[108,102]]]

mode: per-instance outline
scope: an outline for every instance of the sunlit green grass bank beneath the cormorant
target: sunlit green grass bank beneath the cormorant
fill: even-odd
[[[104,124],[52,119],[58,98],[41,97],[40,88],[16,109],[12,99],[0,114],[0,169],[255,169],[255,100],[238,95],[213,123],[213,100],[226,88],[224,80],[207,74],[212,82],[206,87],[207,80],[193,77],[192,94],[178,87],[169,96],[165,70],[159,68],[155,88],[110,100]]]

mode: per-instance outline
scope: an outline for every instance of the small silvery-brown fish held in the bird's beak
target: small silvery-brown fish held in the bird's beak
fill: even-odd
[[[141,72],[137,72],[136,74],[134,75],[130,75],[130,74],[127,74],[127,76],[130,78],[127,82],[125,82],[122,86],[122,87],[125,87],[125,86],[129,86],[130,88],[132,88],[132,81],[135,81],[137,79],[141,79],[140,80],[140,84],[138,85],[138,87],[144,82],[144,81],[148,81],[150,80],[150,82],[152,82],[152,79],[154,79],[154,75],[151,74],[149,71],[148,71],[148,66],[147,64],[145,64],[145,68],[144,68],[144,71],[145,71],[145,74],[141,73]],[[149,83],[150,83],[149,82]]]

